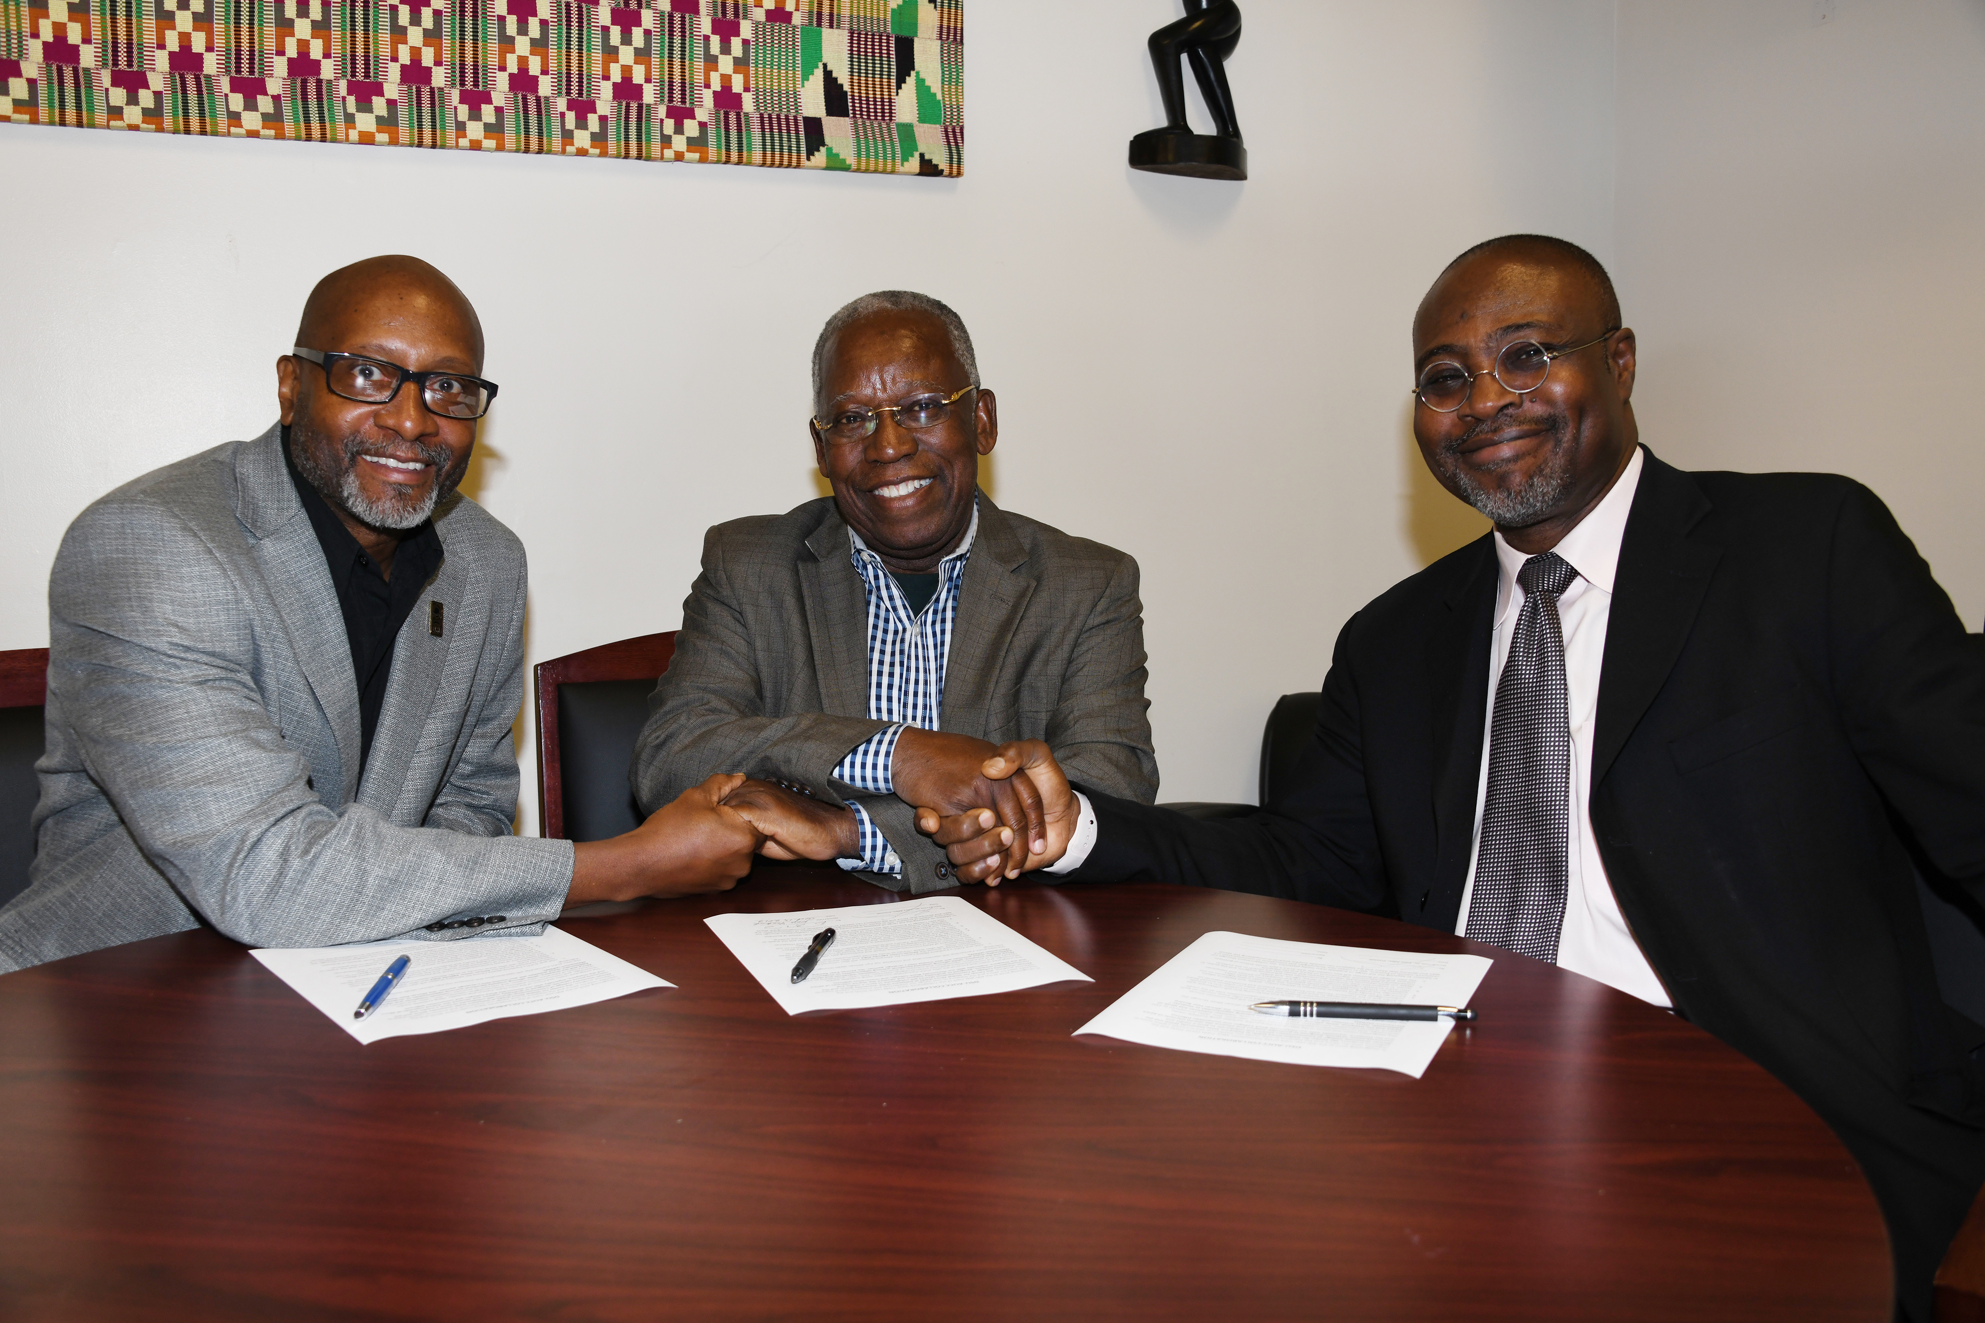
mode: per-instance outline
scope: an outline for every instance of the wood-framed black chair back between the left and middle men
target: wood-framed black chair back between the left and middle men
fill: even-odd
[[[673,657],[671,629],[538,662],[538,835],[603,841],[641,825],[627,768]]]

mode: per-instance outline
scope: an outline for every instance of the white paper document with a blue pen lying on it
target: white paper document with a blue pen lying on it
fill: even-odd
[[[248,954],[361,1043],[675,986],[558,928],[538,936],[260,948]],[[373,1014],[353,1020],[351,1012],[395,956],[409,956],[407,972]]]

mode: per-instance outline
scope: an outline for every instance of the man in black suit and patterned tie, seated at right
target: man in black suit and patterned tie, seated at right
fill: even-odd
[[[1421,452],[1495,534],[1344,625],[1253,817],[1002,748],[989,774],[1024,766],[1050,813],[1030,863],[1395,914],[1673,1006],[1834,1127],[1927,1323],[1985,1178],[1985,1029],[1939,996],[1912,855],[1985,897],[1979,637],[1864,486],[1644,450],[1634,331],[1582,248],[1461,254],[1413,351]],[[919,827],[961,879],[998,867],[977,813]]]

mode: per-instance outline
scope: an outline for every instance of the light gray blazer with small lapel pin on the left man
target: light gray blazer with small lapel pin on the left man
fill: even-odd
[[[393,649],[359,782],[359,696],[280,428],[127,482],[48,585],[48,752],[0,970],[179,932],[252,946],[556,918],[572,845],[510,835],[524,547],[466,498]],[[443,637],[427,601],[443,605]]]

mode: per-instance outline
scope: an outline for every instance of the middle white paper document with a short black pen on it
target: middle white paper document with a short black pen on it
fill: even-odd
[[[959,897],[790,914],[713,914],[703,922],[788,1016],[975,998],[1066,978],[1092,982]],[[804,982],[792,982],[792,966],[822,928],[834,928],[834,944]]]

